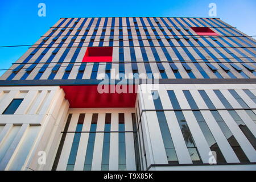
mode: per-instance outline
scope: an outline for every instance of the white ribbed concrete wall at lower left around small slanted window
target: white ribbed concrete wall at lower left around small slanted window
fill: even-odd
[[[67,114],[68,101],[59,86],[0,88],[0,169],[51,169],[57,140]],[[14,114],[2,114],[14,98],[23,98]],[[38,152],[46,164],[38,164]]]

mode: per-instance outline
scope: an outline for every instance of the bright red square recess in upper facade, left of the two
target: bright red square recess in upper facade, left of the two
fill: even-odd
[[[88,47],[82,62],[111,62],[113,47]]]

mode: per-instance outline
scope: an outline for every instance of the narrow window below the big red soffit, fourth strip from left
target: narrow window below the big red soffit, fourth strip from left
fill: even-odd
[[[111,126],[111,114],[106,113],[105,117],[105,127],[104,127],[104,140],[102,149],[102,160],[101,160],[101,170],[109,170],[109,147],[110,147],[110,126]]]

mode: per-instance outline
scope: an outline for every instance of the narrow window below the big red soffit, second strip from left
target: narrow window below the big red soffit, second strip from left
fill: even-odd
[[[82,125],[84,124],[84,117],[85,117],[85,114],[80,114],[79,115],[79,120],[77,122],[76,131],[75,131],[76,133],[74,135],[74,139],[73,139],[73,143],[72,143],[72,147],[71,147],[71,152],[70,152],[69,158],[68,158],[68,165],[67,165],[67,168],[66,168],[67,171],[73,171],[74,167],[75,167],[76,155],[77,155],[77,150],[78,150],[78,147],[79,147]]]

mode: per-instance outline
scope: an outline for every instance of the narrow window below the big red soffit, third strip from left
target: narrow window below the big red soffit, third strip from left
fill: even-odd
[[[92,169],[93,149],[96,136],[97,121],[98,114],[93,114],[92,123],[90,124],[90,134],[85,155],[84,171],[90,171]]]

